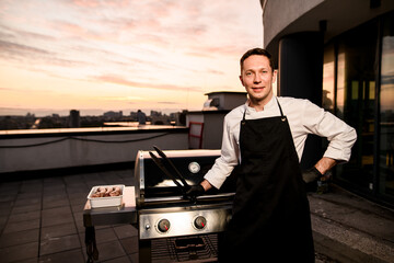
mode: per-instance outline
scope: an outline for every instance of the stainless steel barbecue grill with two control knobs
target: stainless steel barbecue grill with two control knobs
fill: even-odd
[[[220,190],[186,196],[220,150],[139,151],[135,182],[140,262],[216,262],[218,233],[231,219],[234,179]]]

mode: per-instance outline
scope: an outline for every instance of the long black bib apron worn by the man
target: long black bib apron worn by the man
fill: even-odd
[[[220,263],[314,262],[304,182],[287,117],[278,106],[278,117],[243,115],[233,216],[220,240]]]

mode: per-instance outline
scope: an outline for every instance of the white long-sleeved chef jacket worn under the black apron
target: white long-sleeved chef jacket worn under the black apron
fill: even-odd
[[[324,157],[346,162],[350,159],[351,147],[356,142],[356,130],[345,122],[325,112],[322,107],[308,100],[294,98],[273,99],[264,106],[264,111],[256,112],[248,106],[248,101],[232,110],[224,117],[221,156],[215,161],[205,179],[215,187],[220,188],[234,167],[241,163],[240,152],[240,123],[246,111],[245,119],[256,119],[280,116],[277,101],[287,116],[296,150],[301,160],[305,140],[309,134],[327,137],[329,144]]]

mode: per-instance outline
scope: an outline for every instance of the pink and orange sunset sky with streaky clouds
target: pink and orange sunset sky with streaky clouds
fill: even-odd
[[[0,0],[0,115],[201,110],[262,45],[258,0]]]

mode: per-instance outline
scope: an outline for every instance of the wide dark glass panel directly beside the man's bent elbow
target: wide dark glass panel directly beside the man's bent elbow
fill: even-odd
[[[370,22],[339,37],[336,115],[355,127],[358,140],[337,179],[362,191],[373,190],[378,23]]]

